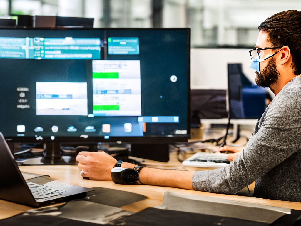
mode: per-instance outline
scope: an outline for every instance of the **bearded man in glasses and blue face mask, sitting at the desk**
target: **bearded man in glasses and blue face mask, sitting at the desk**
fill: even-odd
[[[244,150],[225,168],[176,171],[142,168],[139,182],[215,193],[237,193],[254,180],[255,197],[301,202],[301,12],[284,11],[259,25],[250,67],[256,83],[276,95]],[[116,160],[80,152],[82,176],[111,180]],[[135,165],[123,162],[123,168]]]

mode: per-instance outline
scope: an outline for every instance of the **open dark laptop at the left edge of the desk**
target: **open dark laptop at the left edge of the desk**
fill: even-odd
[[[53,180],[48,175],[22,174],[1,132],[0,181],[0,199],[35,207],[82,199],[93,191]]]

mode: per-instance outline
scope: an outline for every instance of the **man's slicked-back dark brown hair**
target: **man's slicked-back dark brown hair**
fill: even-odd
[[[288,10],[269,17],[258,26],[268,34],[268,42],[274,46],[288,46],[293,57],[292,72],[301,74],[301,12]]]

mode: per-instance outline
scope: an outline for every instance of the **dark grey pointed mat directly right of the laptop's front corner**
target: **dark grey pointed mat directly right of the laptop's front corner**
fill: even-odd
[[[88,193],[88,201],[107,206],[121,207],[147,199],[147,196],[128,191],[103,187],[93,187],[92,189],[94,191]]]

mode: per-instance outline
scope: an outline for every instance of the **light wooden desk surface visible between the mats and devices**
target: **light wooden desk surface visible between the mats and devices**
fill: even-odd
[[[170,160],[171,163],[170,162],[163,163],[160,165],[163,168],[166,168],[167,166],[171,166],[172,168],[179,169],[179,170],[195,171],[200,169],[200,168],[189,168],[189,167],[184,168],[182,167],[180,162],[174,161],[174,159],[175,156],[173,157],[171,156],[171,160]],[[157,166],[155,162],[150,161],[146,163],[148,163],[147,165],[152,165],[153,167]],[[19,168],[22,172],[43,174],[43,175],[46,174],[51,176],[54,180],[59,180],[61,182],[68,183],[68,184],[74,184],[74,185],[79,185],[84,187],[111,188],[111,189],[134,192],[134,193],[147,196],[148,197],[147,199],[122,207],[125,210],[134,211],[134,212],[141,211],[147,207],[153,207],[162,204],[163,193],[166,191],[174,191],[178,193],[192,194],[192,195],[199,195],[199,196],[210,196],[210,197],[230,199],[230,200],[235,200],[240,202],[257,203],[257,204],[268,205],[268,206],[279,206],[279,207],[301,210],[301,203],[299,202],[259,199],[259,198],[249,197],[249,196],[216,194],[216,193],[191,191],[191,190],[178,189],[172,187],[159,187],[159,186],[151,186],[151,185],[143,185],[143,184],[121,185],[121,184],[114,184],[112,181],[86,180],[80,176],[79,169],[77,168],[76,165],[39,165],[39,166],[20,166]],[[33,209],[33,208],[0,199],[0,219],[17,215],[29,209]]]

